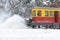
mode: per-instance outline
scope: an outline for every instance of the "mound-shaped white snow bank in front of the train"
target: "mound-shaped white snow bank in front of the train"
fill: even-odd
[[[13,15],[12,17],[8,18],[4,23],[0,25],[0,28],[5,29],[26,29],[27,26],[25,24],[25,20],[20,17],[19,15]]]

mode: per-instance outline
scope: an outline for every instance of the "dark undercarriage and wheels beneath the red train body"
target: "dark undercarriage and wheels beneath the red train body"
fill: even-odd
[[[60,29],[60,23],[37,23],[31,22],[27,24],[31,28],[42,28],[42,29]]]

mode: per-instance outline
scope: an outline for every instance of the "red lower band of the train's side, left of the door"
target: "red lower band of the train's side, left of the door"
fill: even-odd
[[[54,17],[32,17],[33,22],[49,22],[53,23],[55,22]]]

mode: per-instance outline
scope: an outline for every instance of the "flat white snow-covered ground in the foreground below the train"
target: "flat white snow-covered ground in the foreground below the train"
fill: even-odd
[[[60,30],[20,29],[1,30],[0,40],[60,40]]]

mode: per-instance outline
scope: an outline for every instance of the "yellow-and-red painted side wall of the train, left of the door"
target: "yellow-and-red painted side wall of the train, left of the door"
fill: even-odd
[[[41,23],[54,23],[55,22],[55,17],[54,17],[54,10],[50,10],[47,8],[41,8],[41,9],[34,9],[36,10],[36,16],[32,16],[32,21],[33,22],[41,22]],[[41,16],[38,16],[38,10],[41,10]],[[45,16],[45,11],[48,11],[48,16]],[[52,11],[52,16],[50,16],[50,11]]]

